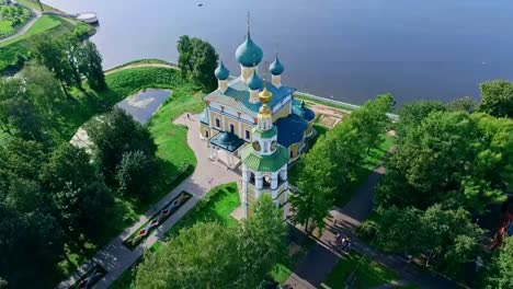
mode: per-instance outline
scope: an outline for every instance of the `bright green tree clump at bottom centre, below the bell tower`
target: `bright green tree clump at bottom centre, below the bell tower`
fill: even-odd
[[[261,197],[240,228],[196,223],[138,266],[134,288],[256,288],[283,254],[286,226]]]

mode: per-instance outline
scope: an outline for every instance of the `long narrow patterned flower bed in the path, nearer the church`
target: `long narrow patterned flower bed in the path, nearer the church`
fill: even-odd
[[[136,248],[155,229],[157,229],[157,227],[166,222],[166,220],[178,211],[191,197],[192,195],[186,192],[180,193],[175,198],[169,201],[163,209],[157,212],[151,219],[128,236],[128,239],[123,241],[123,244],[129,250]]]

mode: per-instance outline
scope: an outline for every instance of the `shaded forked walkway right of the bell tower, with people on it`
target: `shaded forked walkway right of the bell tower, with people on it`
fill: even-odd
[[[331,211],[333,221],[327,222],[322,235],[316,240],[317,243],[296,266],[285,285],[294,289],[319,288],[341,256],[331,245],[334,243],[337,232],[340,232],[342,235],[351,236],[354,250],[367,254],[372,259],[395,270],[400,276],[401,284],[417,284],[422,288],[455,288],[451,280],[431,273],[420,271],[404,263],[402,257],[377,252],[357,239],[354,231],[371,213],[374,188],[384,173],[384,166],[375,169],[350,203],[342,209],[335,208]],[[337,221],[334,222],[334,220]]]

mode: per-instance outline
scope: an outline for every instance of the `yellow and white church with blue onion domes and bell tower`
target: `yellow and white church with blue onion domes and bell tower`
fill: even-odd
[[[241,166],[243,218],[251,218],[252,205],[262,194],[269,194],[286,218],[288,164],[300,157],[314,135],[316,115],[295,100],[293,88],[282,84],[285,68],[277,55],[269,67],[271,81],[266,72],[264,79],[259,76],[263,51],[252,41],[249,25],[236,58],[239,77],[230,77],[223,61],[214,71],[218,88],[204,97],[201,138],[213,161],[231,170]]]

